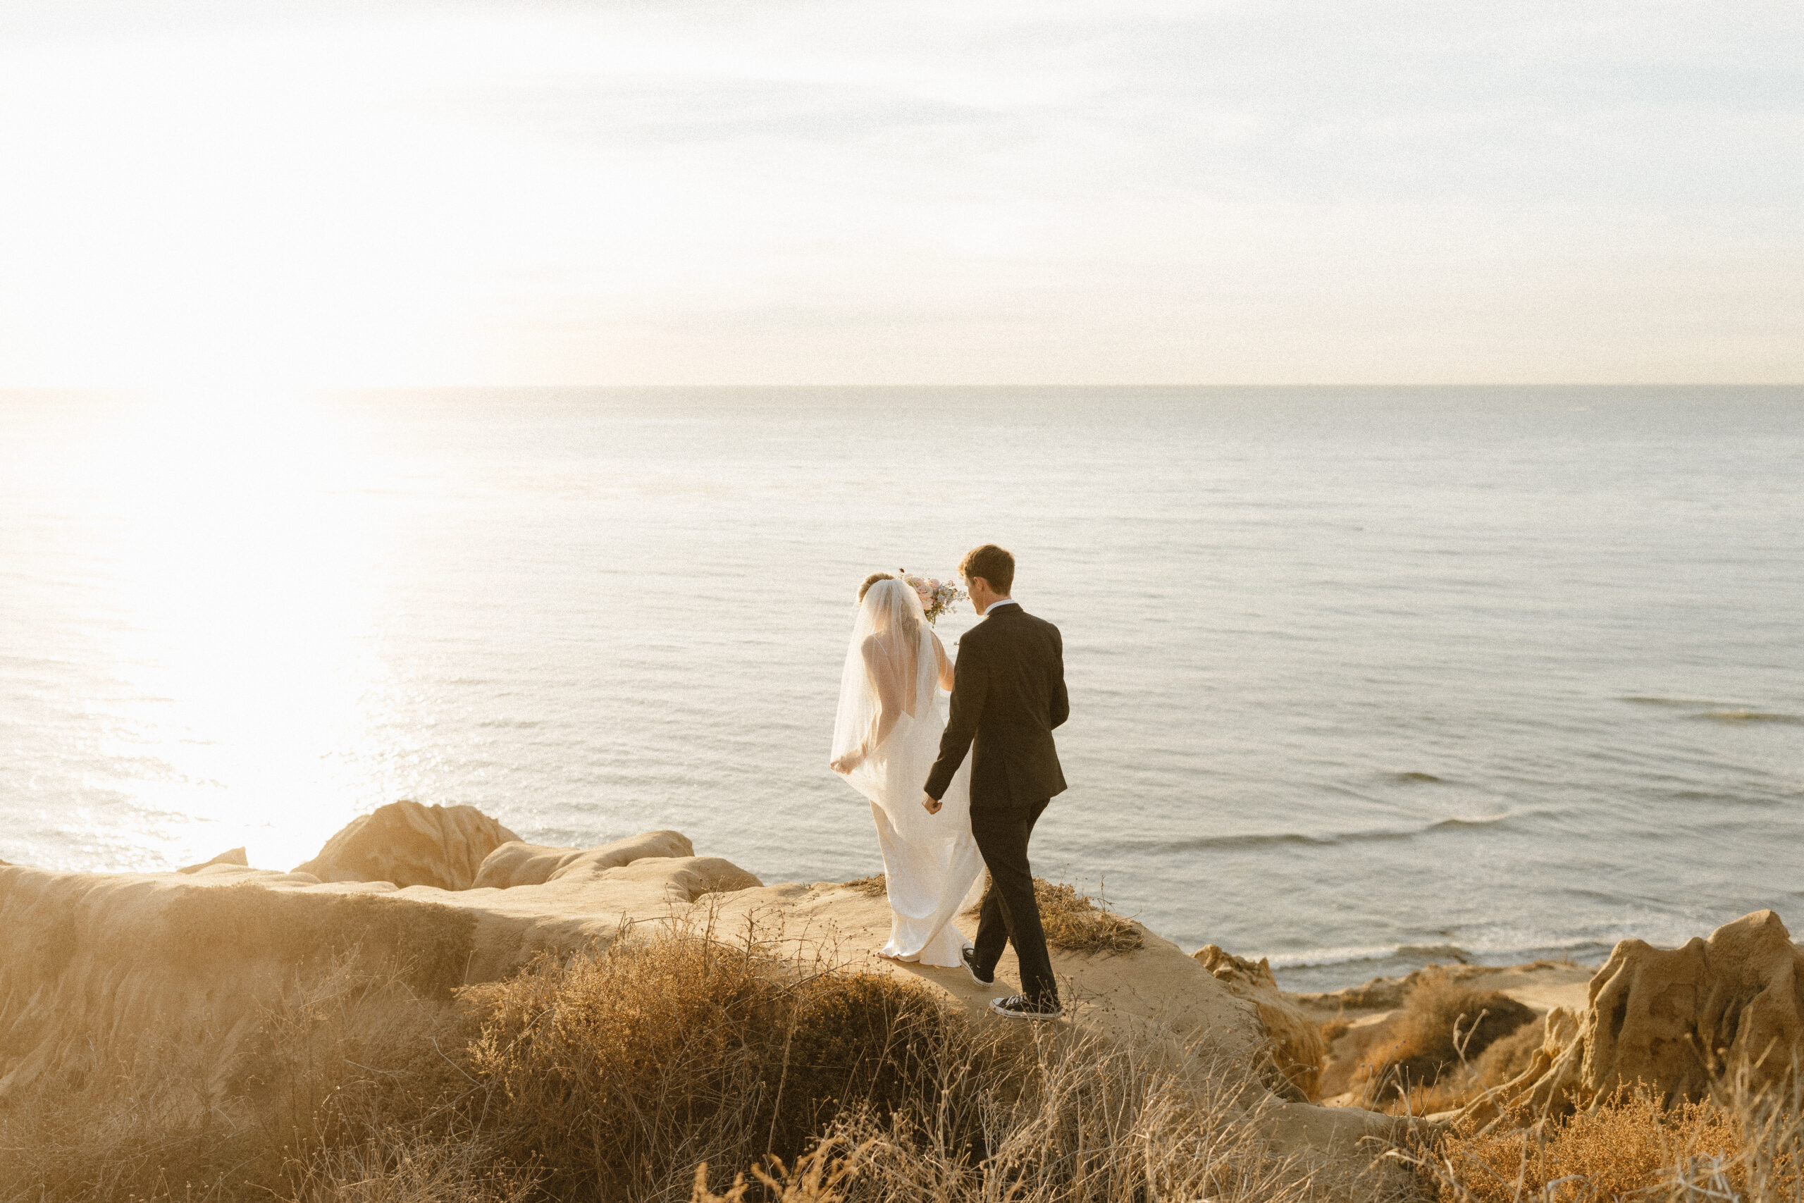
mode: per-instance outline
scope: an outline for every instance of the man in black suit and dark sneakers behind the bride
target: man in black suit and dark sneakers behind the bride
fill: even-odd
[[[920,804],[938,813],[953,774],[976,743],[971,833],[990,869],[990,887],[983,893],[978,947],[965,949],[965,969],[978,985],[992,985],[1003,945],[1012,941],[1021,961],[1021,994],[994,999],[990,1010],[1010,1019],[1057,1019],[1059,985],[1039,925],[1026,842],[1046,803],[1064,792],[1059,750],[1052,745],[1052,729],[1072,712],[1064,696],[1064,640],[1059,628],[1008,597],[1014,556],[1003,548],[994,543],[972,548],[958,575],[983,622],[958,640],[953,716]]]

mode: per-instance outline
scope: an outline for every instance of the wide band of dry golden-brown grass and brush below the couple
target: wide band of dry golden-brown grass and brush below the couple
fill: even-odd
[[[640,931],[455,1001],[355,947],[307,956],[229,1059],[215,1030],[88,1033],[0,1107],[0,1199],[1380,1198],[1274,1154],[1245,1066],[972,1024],[906,979],[797,965],[781,932]]]

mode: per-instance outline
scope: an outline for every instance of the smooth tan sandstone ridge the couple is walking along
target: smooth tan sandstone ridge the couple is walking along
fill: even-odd
[[[779,932],[796,956],[906,976],[978,1023],[1008,1023],[990,1015],[989,999],[1017,988],[1014,956],[994,987],[963,969],[879,960],[889,932],[882,896],[839,884],[761,886],[718,857],[671,855],[693,853],[673,831],[552,849],[458,813],[467,808],[397,806],[354,822],[294,873],[0,868],[0,1100],[96,1033],[180,1033],[226,1073],[271,997],[343,958],[391,967],[426,997],[447,997],[541,950],[592,947],[671,918],[713,922],[723,938],[747,927]],[[395,846],[381,846],[382,831]],[[408,884],[426,875],[487,884]],[[962,923],[969,934],[974,920]],[[1257,1001],[1151,932],[1128,954],[1055,952],[1054,969],[1073,1021],[1064,1032],[1155,1032],[1245,1066],[1268,1046]],[[1284,1151],[1337,1180],[1366,1172],[1371,1138],[1400,1133],[1391,1116],[1364,1111],[1272,1102],[1261,1115]]]

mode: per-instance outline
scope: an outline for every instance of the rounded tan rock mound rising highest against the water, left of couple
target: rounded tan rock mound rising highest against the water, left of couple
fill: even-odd
[[[483,859],[520,837],[474,806],[377,806],[352,819],[319,855],[296,866],[321,882],[393,882],[469,889]]]

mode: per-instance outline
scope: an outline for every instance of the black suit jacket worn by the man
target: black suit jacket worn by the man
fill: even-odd
[[[972,743],[972,810],[1026,806],[1063,794],[1052,729],[1070,712],[1059,628],[1019,604],[992,606],[958,640],[953,714],[940,738],[940,759],[927,774],[927,794],[945,797]]]

